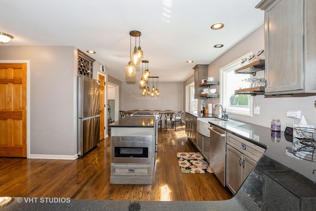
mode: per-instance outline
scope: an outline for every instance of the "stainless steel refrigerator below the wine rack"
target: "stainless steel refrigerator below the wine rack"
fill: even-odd
[[[100,141],[100,84],[97,80],[78,76],[78,156]]]

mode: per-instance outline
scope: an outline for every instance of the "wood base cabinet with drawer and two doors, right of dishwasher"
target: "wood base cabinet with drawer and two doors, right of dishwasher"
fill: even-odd
[[[235,195],[265,149],[230,133],[226,143],[226,186]]]

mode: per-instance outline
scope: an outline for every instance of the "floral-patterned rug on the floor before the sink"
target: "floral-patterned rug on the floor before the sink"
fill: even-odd
[[[177,157],[182,174],[213,173],[199,152],[177,152]]]

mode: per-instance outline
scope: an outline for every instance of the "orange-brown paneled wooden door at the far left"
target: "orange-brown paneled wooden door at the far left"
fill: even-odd
[[[0,64],[0,156],[26,157],[26,67]]]

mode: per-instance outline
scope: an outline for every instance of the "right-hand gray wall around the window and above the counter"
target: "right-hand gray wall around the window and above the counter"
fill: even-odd
[[[260,49],[264,49],[264,26],[259,27],[253,33],[238,42],[234,47],[229,49],[226,53],[210,63],[208,66],[208,75],[219,79],[219,69],[221,67],[229,64],[250,51],[256,53]],[[256,77],[264,77],[264,71],[258,72]],[[307,122],[314,125],[316,124],[316,108],[314,106],[315,100],[316,96],[277,95],[265,97],[264,95],[258,95],[253,97],[253,105],[257,104],[260,106],[260,114],[253,114],[253,117],[230,114],[230,118],[250,122],[264,127],[270,127],[272,119],[280,119],[281,130],[284,131],[286,126],[292,126],[293,121],[292,118],[286,117],[286,111],[301,110]],[[205,100],[205,102],[216,104],[219,102],[219,99],[209,99]],[[213,113],[217,114],[218,109],[216,109]]]

